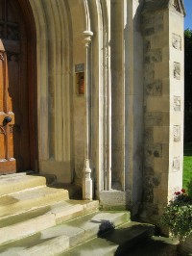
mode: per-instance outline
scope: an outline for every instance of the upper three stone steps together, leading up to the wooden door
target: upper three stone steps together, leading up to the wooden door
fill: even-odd
[[[68,191],[45,184],[46,179],[39,176],[0,176],[1,245],[98,211],[98,201],[70,200]]]

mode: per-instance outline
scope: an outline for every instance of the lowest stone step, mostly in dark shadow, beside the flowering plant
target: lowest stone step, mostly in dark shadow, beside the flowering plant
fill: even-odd
[[[172,239],[151,236],[150,225],[130,222],[102,237],[80,244],[59,255],[64,256],[179,256]],[[140,226],[141,225],[141,226]],[[139,227],[140,226],[140,227]],[[133,231],[133,232],[132,232]],[[58,255],[58,254],[57,254]],[[188,254],[187,254],[188,255]]]

